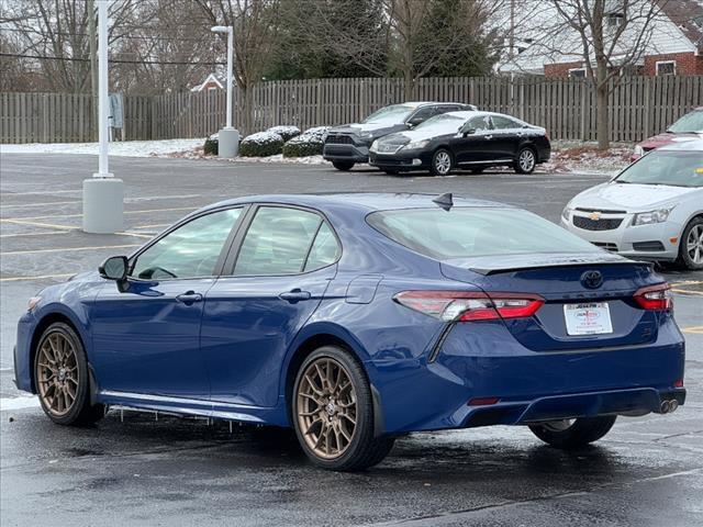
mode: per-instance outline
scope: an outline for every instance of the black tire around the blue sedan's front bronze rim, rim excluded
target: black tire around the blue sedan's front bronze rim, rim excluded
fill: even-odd
[[[76,396],[68,411],[63,415],[58,415],[57,412],[48,406],[47,400],[45,396],[43,396],[40,389],[40,350],[46,343],[47,338],[49,338],[49,336],[60,336],[62,338],[65,338],[75,350],[75,377],[77,381],[75,391]],[[83,345],[80,341],[80,338],[78,337],[74,328],[68,324],[65,324],[63,322],[55,322],[44,330],[34,354],[33,372],[34,385],[36,386],[37,394],[40,395],[42,410],[54,423],[67,426],[85,426],[92,425],[104,416],[104,405],[90,404],[90,382],[88,375],[88,361],[86,359],[86,350],[83,349]]]

